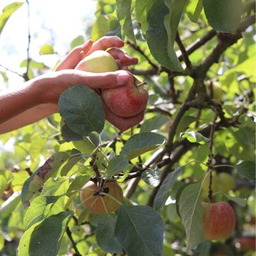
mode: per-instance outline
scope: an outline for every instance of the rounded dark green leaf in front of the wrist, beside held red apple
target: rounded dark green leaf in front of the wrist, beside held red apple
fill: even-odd
[[[99,96],[92,89],[82,84],[72,86],[61,93],[58,106],[68,127],[80,136],[103,130],[104,111]]]

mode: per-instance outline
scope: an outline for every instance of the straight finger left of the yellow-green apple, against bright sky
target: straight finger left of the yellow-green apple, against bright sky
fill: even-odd
[[[73,69],[76,67],[77,63],[84,58],[86,52],[90,51],[92,48],[93,42],[92,40],[88,40],[82,45],[75,47],[72,51],[70,51],[67,56],[62,60],[58,66],[55,68],[55,71],[63,70],[63,69]],[[83,54],[84,52],[84,54]]]

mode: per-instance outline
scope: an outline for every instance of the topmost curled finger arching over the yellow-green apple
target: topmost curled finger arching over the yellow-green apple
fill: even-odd
[[[124,42],[118,36],[103,36],[92,45],[92,48],[89,52],[86,53],[86,56],[97,50],[105,51],[106,49],[111,47],[123,46]]]

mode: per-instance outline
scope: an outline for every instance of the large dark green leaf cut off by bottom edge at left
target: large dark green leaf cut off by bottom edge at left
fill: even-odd
[[[37,225],[29,239],[28,255],[56,256],[58,243],[67,228],[72,214],[72,211],[60,212],[59,214],[51,215]]]

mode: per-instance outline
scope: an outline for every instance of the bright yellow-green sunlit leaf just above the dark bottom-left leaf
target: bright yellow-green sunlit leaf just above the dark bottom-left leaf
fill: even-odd
[[[44,220],[49,211],[47,205],[54,204],[59,198],[60,196],[37,196],[26,211],[24,216],[24,227],[28,229],[36,222]]]

